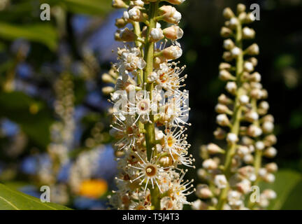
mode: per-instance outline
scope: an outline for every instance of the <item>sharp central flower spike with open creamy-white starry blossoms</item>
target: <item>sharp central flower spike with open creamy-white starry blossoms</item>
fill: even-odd
[[[185,0],[166,1],[177,5]],[[178,168],[194,167],[185,134],[188,92],[180,90],[187,76],[181,75],[185,66],[172,62],[182,55],[181,14],[160,2],[113,0],[114,7],[126,9],[116,20],[115,39],[128,42],[103,75],[115,83],[103,92],[111,92],[114,105],[110,134],[117,139],[120,173],[110,204],[116,209],[182,209],[190,204],[186,195],[192,193],[192,181],[185,181],[187,170]],[[161,29],[162,22],[169,25]]]

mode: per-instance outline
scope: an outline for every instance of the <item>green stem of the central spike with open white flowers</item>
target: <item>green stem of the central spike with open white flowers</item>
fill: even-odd
[[[145,88],[148,92],[150,92],[150,100],[152,100],[152,90],[153,83],[148,83],[148,76],[153,71],[153,57],[154,57],[154,43],[149,40],[150,31],[152,28],[156,27],[155,17],[157,15],[157,10],[159,8],[159,1],[150,3],[149,8],[149,27],[147,31],[146,41],[145,41],[145,62],[147,63],[145,67],[145,71],[143,73],[143,82],[146,85]],[[152,151],[155,146],[155,125],[154,125],[154,116],[150,114],[151,123],[145,124],[145,141],[147,146],[147,157],[148,160],[151,159]],[[153,155],[156,155],[156,151],[154,151]],[[159,189],[155,187],[150,191],[151,193],[151,202],[152,209],[159,210],[160,209],[160,201],[159,201]]]

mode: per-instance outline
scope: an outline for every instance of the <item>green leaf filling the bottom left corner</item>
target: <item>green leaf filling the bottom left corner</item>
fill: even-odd
[[[41,202],[36,197],[11,190],[0,183],[0,210],[71,210],[59,204]]]

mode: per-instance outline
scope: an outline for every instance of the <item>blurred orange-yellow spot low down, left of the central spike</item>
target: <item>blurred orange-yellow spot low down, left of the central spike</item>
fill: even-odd
[[[101,197],[108,190],[108,184],[103,179],[82,181],[79,194],[93,199]]]

